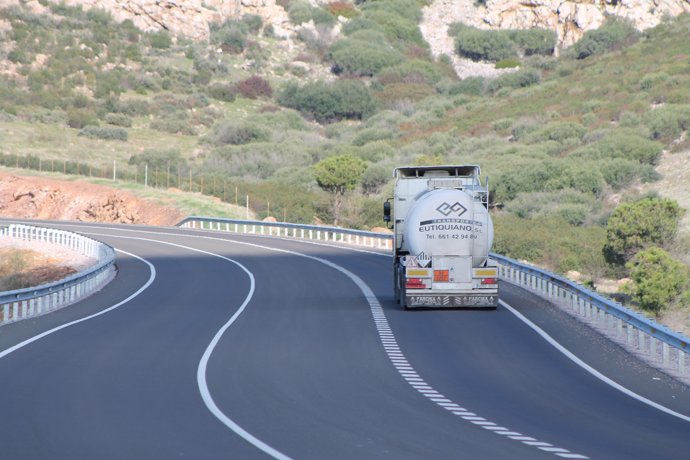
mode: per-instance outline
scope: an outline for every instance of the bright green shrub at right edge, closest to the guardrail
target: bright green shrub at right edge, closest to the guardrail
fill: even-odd
[[[638,252],[627,264],[631,293],[644,310],[659,314],[690,287],[688,267],[661,248]]]

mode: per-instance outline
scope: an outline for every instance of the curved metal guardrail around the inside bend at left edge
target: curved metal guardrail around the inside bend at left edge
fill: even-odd
[[[12,224],[0,228],[0,236],[57,244],[97,260],[96,264],[85,270],[53,283],[0,292],[0,326],[77,302],[101,289],[115,274],[113,248],[78,233]]]

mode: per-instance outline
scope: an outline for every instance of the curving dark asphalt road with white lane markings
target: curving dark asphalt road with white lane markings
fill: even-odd
[[[0,458],[690,458],[687,387],[518,288],[404,312],[384,254],[51,226],[118,249],[118,275],[0,328]]]

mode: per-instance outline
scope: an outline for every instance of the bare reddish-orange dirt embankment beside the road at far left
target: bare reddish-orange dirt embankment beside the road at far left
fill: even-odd
[[[4,172],[0,172],[0,216],[163,226],[184,217],[177,210],[109,187]]]

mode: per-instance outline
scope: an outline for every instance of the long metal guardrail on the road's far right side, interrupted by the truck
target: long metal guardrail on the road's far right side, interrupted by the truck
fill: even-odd
[[[188,217],[184,228],[221,232],[333,241],[392,250],[393,235],[337,227],[261,222],[253,220]],[[532,291],[619,343],[650,365],[690,383],[690,339],[573,281],[499,254],[503,281]]]

